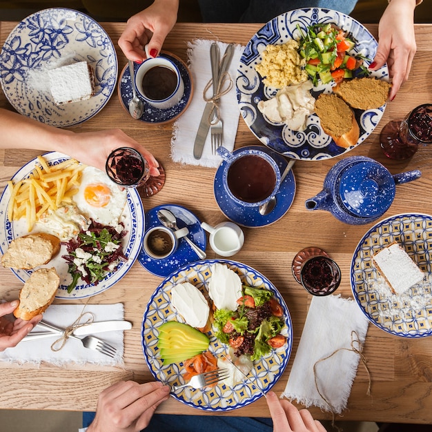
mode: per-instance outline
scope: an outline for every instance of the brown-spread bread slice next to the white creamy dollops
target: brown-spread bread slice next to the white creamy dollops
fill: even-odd
[[[315,101],[315,113],[337,146],[349,148],[357,144],[360,128],[353,110],[340,97],[322,93]]]

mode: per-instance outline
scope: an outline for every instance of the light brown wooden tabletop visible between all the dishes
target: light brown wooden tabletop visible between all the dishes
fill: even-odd
[[[2,22],[0,43],[3,44],[16,23]],[[119,69],[126,59],[117,46],[124,23],[101,23],[115,43],[119,56]],[[259,24],[197,24],[179,23],[168,35],[164,49],[186,61],[186,41],[195,38],[219,39],[224,42],[246,44],[260,28]],[[377,37],[377,26],[366,26]],[[432,26],[416,25],[418,52],[415,55],[410,79],[394,101],[387,105],[380,124],[366,141],[349,155],[366,155],[382,162],[392,174],[404,170],[420,169],[422,177],[410,184],[397,186],[395,200],[385,217],[398,213],[431,213],[432,148],[421,148],[409,161],[395,162],[385,159],[380,150],[379,132],[391,119],[400,119],[412,108],[431,102]],[[166,184],[160,193],[144,200],[144,208],[166,203],[186,206],[208,224],[226,220],[215,202],[213,177],[215,169],[181,166],[170,159],[171,126],[153,126],[132,120],[117,97],[117,91],[102,112],[73,128],[76,131],[99,130],[121,127],[150,150],[166,169]],[[0,106],[11,108],[3,93]],[[246,127],[243,119],[235,148],[259,144]],[[6,181],[27,161],[40,154],[34,144],[28,152],[0,150],[0,189]],[[275,224],[262,228],[244,228],[244,248],[233,259],[252,266],[275,284],[284,296],[293,319],[293,353],[282,378],[275,384],[277,394],[282,393],[302,334],[311,296],[295,282],[291,262],[295,254],[306,246],[318,246],[340,264],[342,283],[337,293],[352,298],[349,282],[350,263],[357,243],[373,224],[351,226],[343,224],[330,213],[305,210],[304,202],[322,189],[328,170],[342,159],[324,161],[298,161],[294,166],[297,193],[291,209]],[[197,188],[197,185],[199,187]],[[216,257],[207,249],[208,258]],[[138,262],[132,266],[120,282],[104,293],[92,298],[92,302],[112,304],[123,302],[125,318],[133,323],[131,331],[125,332],[124,368],[97,366],[68,366],[60,368],[51,364],[41,367],[0,364],[0,409],[51,409],[82,411],[95,409],[102,389],[118,380],[132,379],[146,382],[151,375],[141,348],[141,319],[146,304],[161,278],[148,273]],[[0,299],[17,298],[21,282],[14,274],[0,268]],[[432,424],[432,344],[431,338],[407,339],[390,335],[373,324],[364,344],[364,355],[371,372],[371,396],[366,395],[368,377],[360,364],[352,387],[348,407],[343,420],[369,420],[379,422],[418,422]],[[202,414],[173,398],[159,407],[161,413]],[[318,419],[331,415],[319,409],[311,409]],[[228,415],[268,416],[264,398]]]

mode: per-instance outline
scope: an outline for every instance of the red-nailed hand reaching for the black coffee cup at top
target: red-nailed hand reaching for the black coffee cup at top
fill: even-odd
[[[155,0],[151,6],[130,17],[119,39],[124,55],[141,63],[146,59],[144,46],[148,44],[150,57],[157,57],[177,21],[178,10],[179,0]]]

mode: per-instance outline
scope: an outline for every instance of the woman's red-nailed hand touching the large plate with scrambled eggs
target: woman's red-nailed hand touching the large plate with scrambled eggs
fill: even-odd
[[[391,0],[378,26],[378,48],[369,68],[377,70],[385,62],[389,66],[393,100],[400,86],[408,79],[417,46],[414,34],[415,0]]]

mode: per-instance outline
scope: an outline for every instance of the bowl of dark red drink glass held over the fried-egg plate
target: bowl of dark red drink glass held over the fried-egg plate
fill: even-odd
[[[134,148],[121,147],[112,151],[106,160],[108,177],[119,186],[138,188],[150,177],[146,159]]]

